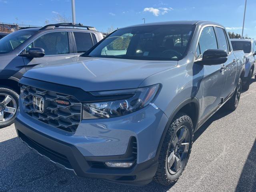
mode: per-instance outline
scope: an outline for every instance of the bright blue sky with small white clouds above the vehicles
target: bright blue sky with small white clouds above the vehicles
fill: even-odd
[[[58,14],[71,19],[70,0],[0,0],[0,22],[43,26]],[[106,31],[113,26],[170,20],[210,20],[242,33],[244,0],[76,0],[76,21]],[[18,18],[18,20],[16,19]],[[247,0],[245,32],[256,38],[256,0]]]

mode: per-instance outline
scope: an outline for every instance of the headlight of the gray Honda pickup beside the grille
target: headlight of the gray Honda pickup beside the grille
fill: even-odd
[[[86,103],[83,106],[83,119],[111,118],[140,110],[154,99],[159,87],[160,84],[155,84],[137,89],[91,92],[91,94],[96,97],[127,95],[127,98],[106,102]]]

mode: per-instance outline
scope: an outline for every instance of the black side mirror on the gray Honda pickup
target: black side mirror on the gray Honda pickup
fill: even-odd
[[[228,60],[228,54],[224,50],[208,49],[204,52],[202,60],[196,61],[202,65],[218,65]]]

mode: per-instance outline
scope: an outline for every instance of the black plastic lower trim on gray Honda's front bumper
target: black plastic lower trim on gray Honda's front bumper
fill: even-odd
[[[127,169],[92,168],[86,161],[87,157],[83,156],[72,144],[43,134],[22,122],[18,117],[16,117],[15,120],[15,128],[19,137],[19,132],[22,132],[22,134],[38,144],[66,156],[72,169],[74,169],[74,172],[78,176],[99,178],[130,185],[146,185],[152,181],[152,178],[156,174],[158,167],[157,157],[140,164],[134,164],[132,168]],[[95,159],[97,159],[97,157],[95,157]],[[109,159],[109,157],[106,156],[106,159]],[[106,162],[106,160],[104,161]]]

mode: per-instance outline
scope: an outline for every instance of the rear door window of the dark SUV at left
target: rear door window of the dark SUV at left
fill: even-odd
[[[90,33],[74,32],[74,37],[76,40],[76,49],[78,53],[84,53],[93,46]]]

